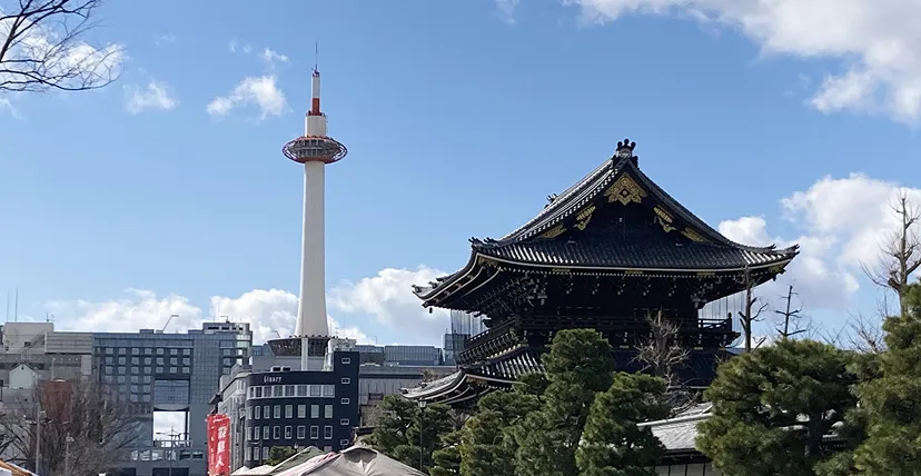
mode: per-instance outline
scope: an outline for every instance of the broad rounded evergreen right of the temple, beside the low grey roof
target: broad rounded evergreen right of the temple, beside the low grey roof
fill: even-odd
[[[725,476],[813,476],[835,448],[824,436],[856,404],[851,357],[812,340],[783,340],[723,364],[704,396],[713,416],[696,446]]]

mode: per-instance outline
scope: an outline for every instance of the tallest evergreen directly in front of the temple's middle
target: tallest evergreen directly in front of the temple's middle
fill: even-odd
[[[511,429],[516,475],[576,476],[575,450],[595,394],[613,379],[612,348],[595,330],[562,330],[543,364],[547,386],[541,408]]]

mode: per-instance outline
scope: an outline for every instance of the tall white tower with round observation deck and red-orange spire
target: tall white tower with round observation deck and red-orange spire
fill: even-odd
[[[289,351],[300,350],[301,370],[321,370],[329,345],[326,321],[325,167],[348,153],[339,141],[326,136],[326,115],[320,111],[320,77],[314,66],[313,99],[305,118],[304,136],[281,148],[285,157],[304,167],[304,221],[300,255],[300,301]]]

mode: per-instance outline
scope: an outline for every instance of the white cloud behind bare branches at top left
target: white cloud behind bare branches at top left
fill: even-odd
[[[6,39],[16,20],[16,17],[0,20],[0,38]],[[121,44],[108,43],[97,48],[79,39],[61,42],[62,31],[51,27],[57,24],[60,23],[27,23],[19,27],[18,31],[22,36],[3,58],[8,72],[0,73],[0,85],[9,90],[48,89],[41,85],[17,83],[26,78],[23,73],[36,70],[34,59],[41,60],[43,77],[61,78],[56,82],[65,88],[100,85],[118,77],[125,61],[125,48]]]

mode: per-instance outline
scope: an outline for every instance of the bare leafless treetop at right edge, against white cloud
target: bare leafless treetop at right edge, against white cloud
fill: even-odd
[[[921,267],[921,237],[918,234],[921,209],[911,204],[905,190],[897,194],[890,208],[899,217],[899,226],[880,246],[880,262],[875,266],[861,264],[861,268],[873,284],[901,298],[911,275]]]

